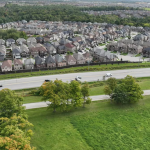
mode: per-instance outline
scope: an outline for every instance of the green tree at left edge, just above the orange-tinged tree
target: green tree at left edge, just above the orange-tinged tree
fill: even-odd
[[[14,113],[24,115],[23,98],[14,91],[3,89],[0,91],[0,117],[10,118]],[[24,115],[24,117],[26,117]]]

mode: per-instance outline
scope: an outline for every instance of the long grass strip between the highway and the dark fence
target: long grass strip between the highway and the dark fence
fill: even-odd
[[[66,74],[66,73],[76,73],[76,72],[88,72],[88,71],[105,71],[105,70],[120,70],[120,69],[134,69],[134,68],[149,68],[150,63],[120,63],[118,64],[102,64],[94,66],[83,66],[83,67],[72,67],[59,70],[46,70],[46,71],[36,71],[36,72],[25,72],[25,73],[13,73],[13,74],[1,74],[0,80],[23,78],[23,77],[33,77],[33,76],[44,76],[53,74]]]

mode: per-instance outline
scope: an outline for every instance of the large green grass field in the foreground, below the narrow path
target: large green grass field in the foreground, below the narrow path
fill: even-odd
[[[98,101],[68,113],[41,108],[27,114],[37,150],[150,149],[150,96],[135,105]]]

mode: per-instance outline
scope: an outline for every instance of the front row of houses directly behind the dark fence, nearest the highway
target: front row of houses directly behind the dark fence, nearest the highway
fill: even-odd
[[[45,59],[40,56],[33,58],[28,58],[22,61],[21,59],[6,60],[1,65],[1,71],[7,72],[12,70],[22,70],[22,69],[34,69],[34,68],[54,68],[63,67],[68,65],[85,64],[91,62],[93,57],[89,52],[85,54],[74,53],[73,55],[62,56],[56,54],[54,56],[49,55]]]

